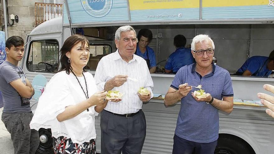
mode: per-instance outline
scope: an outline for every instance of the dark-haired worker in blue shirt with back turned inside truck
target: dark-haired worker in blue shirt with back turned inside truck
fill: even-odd
[[[177,71],[185,66],[194,63],[194,58],[189,48],[185,48],[187,39],[184,35],[176,35],[173,39],[173,44],[176,50],[170,54],[165,65],[166,73],[177,73]]]

